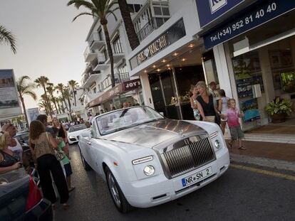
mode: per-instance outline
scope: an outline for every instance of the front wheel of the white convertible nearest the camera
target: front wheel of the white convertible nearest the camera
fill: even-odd
[[[105,177],[108,183],[108,190],[110,191],[110,195],[112,196],[115,207],[119,212],[127,213],[131,210],[131,205],[126,200],[120,186],[115,180],[113,173],[110,171],[110,168],[105,168]]]

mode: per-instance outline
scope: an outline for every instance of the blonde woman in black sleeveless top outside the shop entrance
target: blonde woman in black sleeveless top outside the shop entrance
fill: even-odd
[[[204,122],[214,122],[220,124],[217,109],[214,107],[214,98],[207,92],[204,81],[197,82],[197,91],[200,95],[197,97],[197,107],[200,111],[200,120]]]

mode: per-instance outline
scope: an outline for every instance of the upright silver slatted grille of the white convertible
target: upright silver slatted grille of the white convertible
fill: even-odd
[[[209,138],[167,151],[163,153],[163,156],[172,178],[203,166],[215,159],[215,153]]]

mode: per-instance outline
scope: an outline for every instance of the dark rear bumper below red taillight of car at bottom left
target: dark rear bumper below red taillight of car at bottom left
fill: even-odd
[[[42,199],[37,205],[35,205],[31,210],[26,212],[25,221],[52,221],[53,211],[51,207],[51,202],[46,199]]]

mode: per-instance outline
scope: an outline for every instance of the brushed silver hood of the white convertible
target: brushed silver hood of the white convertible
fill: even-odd
[[[136,144],[152,148],[157,144],[170,139],[183,139],[191,134],[204,134],[205,130],[195,124],[173,119],[162,119],[133,126],[122,131],[103,136],[103,139],[118,141],[128,144]]]

